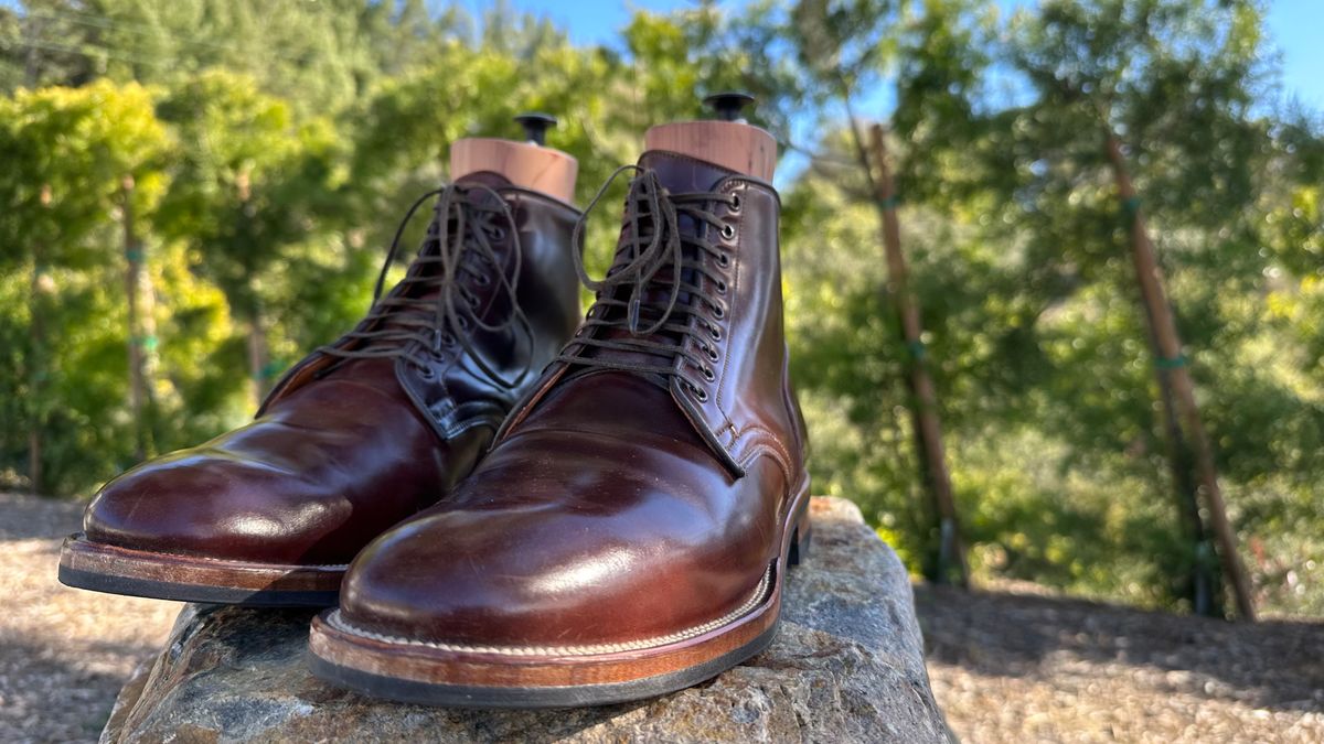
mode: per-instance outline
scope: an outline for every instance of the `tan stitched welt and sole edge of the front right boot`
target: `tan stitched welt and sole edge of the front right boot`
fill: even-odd
[[[466,647],[357,630],[327,610],[312,621],[308,663],[315,676],[373,698],[457,708],[602,706],[691,687],[772,643],[786,569],[809,547],[808,492],[806,482],[751,602],[699,629],[597,647]]]

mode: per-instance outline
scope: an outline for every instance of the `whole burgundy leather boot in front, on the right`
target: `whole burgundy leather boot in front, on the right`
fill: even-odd
[[[809,537],[777,193],[670,152],[633,169],[585,324],[478,469],[355,559],[312,624],[318,676],[425,704],[585,706],[687,687],[772,641]]]

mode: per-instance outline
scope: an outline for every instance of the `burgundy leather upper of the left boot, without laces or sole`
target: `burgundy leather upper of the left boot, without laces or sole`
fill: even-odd
[[[267,564],[347,564],[467,475],[516,397],[579,323],[571,256],[579,213],[491,173],[459,183],[494,188],[511,209],[522,253],[515,301],[532,334],[515,326],[479,330],[473,352],[418,349],[428,360],[421,368],[404,359],[315,352],[286,373],[252,424],[106,485],[87,508],[87,539]],[[470,197],[495,199],[478,191]],[[495,246],[507,277],[512,244],[507,232]],[[421,270],[429,269],[417,262],[409,269]],[[463,281],[481,301],[479,318],[508,316],[511,298],[496,281]],[[332,346],[354,344],[346,336]],[[507,379],[528,372],[504,389],[475,369],[475,353]]]

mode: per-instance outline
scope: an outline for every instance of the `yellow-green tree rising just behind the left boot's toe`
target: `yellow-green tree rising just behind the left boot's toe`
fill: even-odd
[[[273,307],[297,282],[298,246],[324,226],[339,158],[326,122],[298,123],[289,106],[257,90],[250,78],[200,73],[160,102],[180,156],[162,201],[158,229],[199,254],[196,270],[225,293],[246,328],[253,405],[281,371],[270,359]]]

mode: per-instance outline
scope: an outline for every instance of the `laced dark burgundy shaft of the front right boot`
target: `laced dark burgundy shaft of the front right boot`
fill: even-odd
[[[645,154],[636,172],[613,266],[585,282],[585,324],[498,441],[553,387],[614,371],[665,387],[733,477],[764,454],[801,473],[776,189],[674,152]]]

